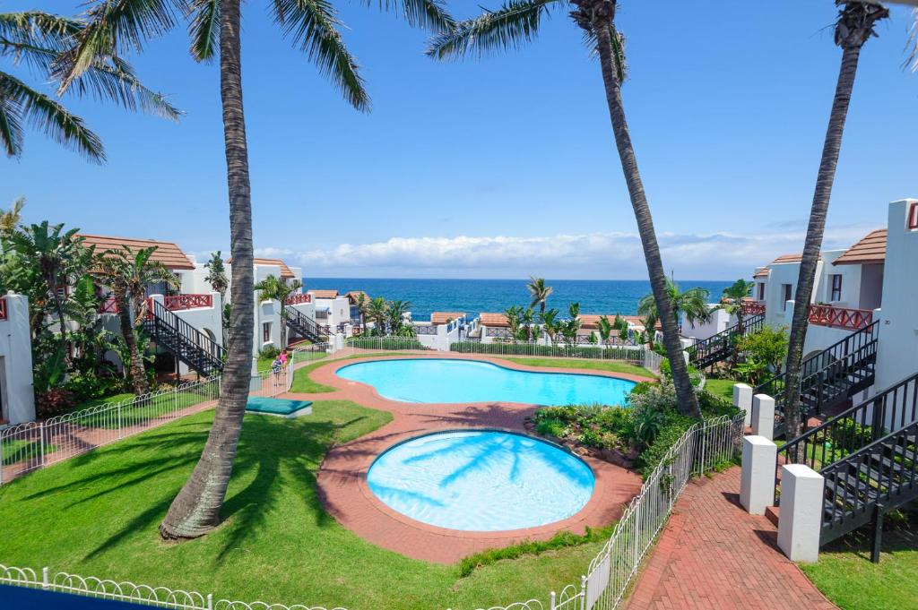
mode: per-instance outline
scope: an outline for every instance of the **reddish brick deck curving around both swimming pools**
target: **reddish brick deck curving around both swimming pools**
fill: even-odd
[[[411,353],[385,357],[451,358],[455,360],[485,360],[519,371],[584,372],[632,381],[646,378],[624,373],[609,373],[551,367],[525,367],[509,360],[490,358],[481,354],[437,354],[429,356]],[[369,360],[369,359],[367,359]],[[380,360],[373,358],[372,360]],[[583,533],[586,527],[604,527],[621,516],[624,504],[641,488],[641,478],[632,471],[602,460],[584,458],[596,475],[596,489],[588,504],[563,521],[544,527],[517,529],[509,532],[464,532],[433,527],[393,511],[370,492],[366,472],[376,456],[408,438],[440,430],[463,428],[497,428],[525,432],[527,416],[535,411],[533,405],[513,403],[478,403],[471,405],[433,405],[401,403],[387,400],[364,383],[341,379],[335,372],[343,366],[364,359],[331,361],[311,372],[315,382],[339,388],[325,394],[284,394],[302,400],[350,400],[359,405],[388,411],[393,419],[386,426],[351,442],[330,449],[319,470],[318,486],[322,504],[342,526],[361,538],[384,549],[408,557],[452,563],[484,549],[506,547],[523,540],[547,539],[561,530]]]

